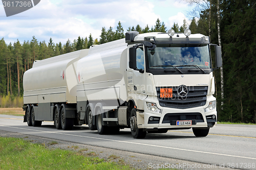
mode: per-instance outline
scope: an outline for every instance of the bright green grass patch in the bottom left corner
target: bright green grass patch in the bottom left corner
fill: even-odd
[[[0,137],[0,169],[131,169],[75,151],[50,150],[17,138]]]

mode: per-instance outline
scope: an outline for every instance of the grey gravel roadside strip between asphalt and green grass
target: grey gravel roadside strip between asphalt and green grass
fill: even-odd
[[[15,137],[29,140],[32,143],[40,143],[45,145],[48,149],[63,149],[73,150],[82,153],[85,156],[97,156],[108,162],[118,162],[121,164],[130,165],[134,169],[158,169],[161,167],[176,167],[176,169],[218,169],[219,165],[213,168],[202,168],[202,163],[190,162],[172,158],[159,157],[154,155],[145,155],[134,152],[120,151],[109,148],[96,147],[88,144],[81,144],[75,142],[67,142],[62,140],[54,140],[50,138],[37,137],[32,135],[25,135],[20,133],[13,133],[0,130],[1,137]],[[185,165],[185,166],[184,166]],[[197,168],[193,168],[193,167]],[[178,168],[177,168],[178,167]],[[181,168],[182,167],[182,168]],[[189,168],[187,168],[189,167]],[[201,167],[201,168],[198,168]],[[229,168],[221,168],[229,169]]]

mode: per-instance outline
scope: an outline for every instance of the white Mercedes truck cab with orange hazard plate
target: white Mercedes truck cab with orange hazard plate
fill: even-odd
[[[126,33],[127,99],[136,107],[130,125],[137,137],[145,131],[190,128],[196,136],[207,136],[216,125],[213,44],[207,36],[190,33]],[[218,46],[216,63],[217,68],[222,65]]]

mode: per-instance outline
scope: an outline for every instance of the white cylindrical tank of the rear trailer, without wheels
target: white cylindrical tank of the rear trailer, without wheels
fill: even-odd
[[[35,61],[33,67],[24,73],[24,104],[76,103],[76,94],[70,95],[77,84],[77,81],[74,82],[76,62],[88,52],[89,50],[80,50]],[[41,101],[38,96],[42,96],[44,100]]]

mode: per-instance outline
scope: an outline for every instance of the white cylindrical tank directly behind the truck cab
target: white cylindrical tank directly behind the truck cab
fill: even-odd
[[[125,39],[90,47],[88,56],[77,63],[77,99],[122,104],[127,98],[126,67]]]

